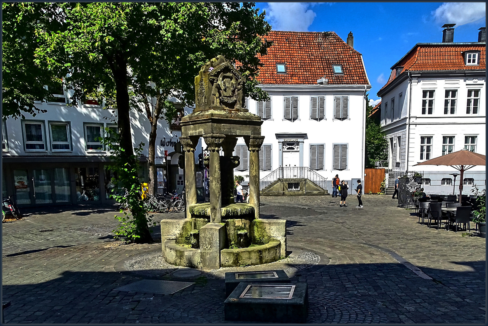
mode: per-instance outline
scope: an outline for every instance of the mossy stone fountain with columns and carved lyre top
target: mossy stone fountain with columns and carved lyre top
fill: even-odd
[[[259,151],[263,121],[244,108],[244,78],[223,56],[207,62],[195,77],[195,109],[182,118],[186,218],[163,219],[166,262],[216,269],[271,263],[285,257],[286,221],[259,218]],[[210,203],[197,203],[195,148],[203,137],[210,156]],[[234,203],[233,156],[237,137],[249,150],[249,204]],[[224,156],[220,155],[223,150]]]

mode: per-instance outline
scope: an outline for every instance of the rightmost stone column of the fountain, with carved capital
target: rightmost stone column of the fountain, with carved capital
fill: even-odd
[[[249,204],[254,206],[254,216],[259,218],[259,150],[264,136],[245,136],[249,149]]]

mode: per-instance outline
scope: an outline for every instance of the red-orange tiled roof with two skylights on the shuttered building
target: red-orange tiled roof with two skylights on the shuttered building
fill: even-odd
[[[334,32],[271,31],[264,38],[273,45],[259,57],[261,84],[317,85],[325,76],[332,85],[369,85],[361,54]],[[276,63],[286,63],[286,74],[276,72]],[[344,75],[334,75],[332,64],[341,64]]]

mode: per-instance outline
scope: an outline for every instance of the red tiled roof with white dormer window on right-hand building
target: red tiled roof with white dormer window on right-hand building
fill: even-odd
[[[477,50],[480,52],[479,66],[464,64],[463,52]],[[398,61],[391,69],[390,77],[383,90],[396,77],[395,67],[404,67],[405,71],[432,71],[432,70],[485,70],[486,44],[422,44],[419,43],[407,55]],[[401,74],[400,73],[400,74]],[[380,90],[380,92],[381,92]]]

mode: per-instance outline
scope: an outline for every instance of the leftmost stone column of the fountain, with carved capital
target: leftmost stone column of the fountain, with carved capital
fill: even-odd
[[[195,136],[182,136],[180,142],[184,152],[184,184],[186,194],[186,218],[191,218],[190,205],[197,203],[197,180],[195,177],[195,148],[198,145]]]

